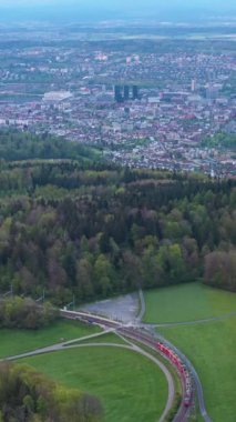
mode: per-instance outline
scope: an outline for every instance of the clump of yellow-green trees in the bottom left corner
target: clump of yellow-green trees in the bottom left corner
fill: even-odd
[[[0,422],[99,422],[100,401],[28,365],[0,363]]]

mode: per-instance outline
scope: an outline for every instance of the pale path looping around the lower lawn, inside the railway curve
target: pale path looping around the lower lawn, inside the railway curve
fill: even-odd
[[[109,330],[109,331],[111,332],[114,330]],[[58,344],[53,344],[53,345],[48,346],[48,348],[37,349],[34,351],[31,351],[31,352],[25,352],[25,353],[17,354],[14,356],[4,358],[4,360],[14,361],[14,360],[19,360],[19,359],[35,356],[39,354],[53,353],[53,352],[62,351],[62,350],[66,350],[66,349],[98,348],[98,346],[121,348],[121,349],[126,349],[126,350],[131,350],[133,352],[140,353],[143,356],[151,360],[153,363],[155,363],[162,370],[162,372],[164,373],[164,375],[166,378],[167,385],[168,385],[168,399],[167,399],[165,409],[164,409],[161,418],[158,419],[158,422],[164,422],[167,413],[172,409],[174,396],[175,396],[174,381],[173,381],[173,376],[172,376],[171,372],[157,358],[155,358],[152,354],[150,354],[148,352],[144,351],[138,345],[133,344],[131,341],[124,339],[123,335],[120,335],[120,334],[117,334],[117,335],[121,336],[127,344],[106,343],[106,342],[104,342],[104,343],[96,343],[96,342],[93,343],[92,342],[92,343],[82,343],[82,344],[79,343],[80,341],[94,339],[94,338],[101,336],[101,335],[106,334],[106,333],[107,333],[107,331],[104,331],[104,332],[98,333],[98,334],[86,335],[84,338],[71,340],[69,342],[58,343]],[[73,344],[73,343],[76,343],[76,344]]]

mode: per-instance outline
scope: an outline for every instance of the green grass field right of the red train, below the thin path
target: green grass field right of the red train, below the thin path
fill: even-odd
[[[214,422],[236,421],[236,316],[196,325],[158,329],[194,364]]]

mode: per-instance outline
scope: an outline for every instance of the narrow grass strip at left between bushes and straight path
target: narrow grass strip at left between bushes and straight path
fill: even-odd
[[[41,330],[0,329],[0,358],[12,356],[44,348],[60,341],[79,339],[101,330],[95,325],[85,325],[78,321],[60,320]]]

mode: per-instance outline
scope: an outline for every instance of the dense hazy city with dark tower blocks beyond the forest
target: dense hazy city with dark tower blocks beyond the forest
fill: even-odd
[[[234,175],[234,37],[205,41],[204,51],[188,39],[153,48],[120,33],[110,40],[111,28],[96,31],[105,29],[99,44],[94,28],[91,42],[80,27],[64,30],[66,42],[52,29],[28,42],[28,28],[6,43],[3,30],[0,125],[96,145],[129,167]]]

